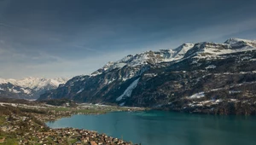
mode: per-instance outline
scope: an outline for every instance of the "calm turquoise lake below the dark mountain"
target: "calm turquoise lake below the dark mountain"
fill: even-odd
[[[48,122],[143,145],[255,145],[256,117],[201,115],[162,111],[73,115]]]

